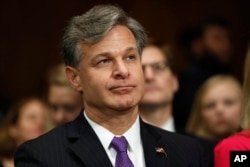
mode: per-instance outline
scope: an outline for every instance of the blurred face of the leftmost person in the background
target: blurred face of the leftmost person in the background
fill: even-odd
[[[38,100],[29,101],[20,108],[17,123],[11,126],[11,135],[17,145],[45,133],[48,113],[48,106]]]

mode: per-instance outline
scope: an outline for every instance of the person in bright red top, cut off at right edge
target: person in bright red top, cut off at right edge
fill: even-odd
[[[222,140],[215,147],[215,167],[230,167],[230,151],[250,150],[250,43],[245,59],[243,102],[243,130]],[[242,163],[242,165],[244,164]]]

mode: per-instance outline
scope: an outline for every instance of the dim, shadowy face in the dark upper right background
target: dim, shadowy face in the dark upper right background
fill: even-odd
[[[231,52],[230,35],[227,29],[220,26],[209,26],[203,35],[206,49],[213,53],[221,62],[228,62]]]

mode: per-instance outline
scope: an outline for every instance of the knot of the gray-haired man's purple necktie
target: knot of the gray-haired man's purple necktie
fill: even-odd
[[[111,142],[111,146],[117,152],[127,152],[128,143],[124,136],[114,137]]]

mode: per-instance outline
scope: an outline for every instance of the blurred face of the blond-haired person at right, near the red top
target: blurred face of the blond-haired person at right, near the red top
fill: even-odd
[[[230,80],[210,86],[201,98],[201,119],[208,133],[216,138],[236,132],[240,127],[241,92]]]

